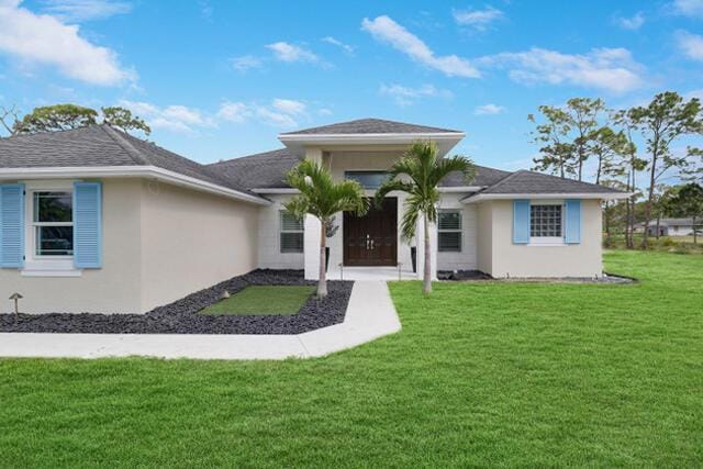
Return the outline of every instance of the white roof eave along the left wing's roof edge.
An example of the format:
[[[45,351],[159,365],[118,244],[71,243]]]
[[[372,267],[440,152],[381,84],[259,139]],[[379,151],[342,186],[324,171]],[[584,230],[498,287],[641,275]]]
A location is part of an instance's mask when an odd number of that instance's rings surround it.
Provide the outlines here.
[[[243,202],[269,205],[271,202],[259,196],[248,194],[224,186],[203,181],[157,166],[79,166],[40,168],[0,168],[0,180],[58,179],[58,178],[153,178],[163,182],[186,187],[202,192],[223,196]]]

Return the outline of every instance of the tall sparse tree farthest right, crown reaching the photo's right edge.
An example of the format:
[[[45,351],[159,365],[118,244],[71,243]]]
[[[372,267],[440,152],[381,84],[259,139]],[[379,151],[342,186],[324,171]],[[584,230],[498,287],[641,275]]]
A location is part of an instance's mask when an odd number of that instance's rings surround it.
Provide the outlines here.
[[[683,135],[703,132],[703,118],[701,103],[696,98],[684,101],[673,91],[655,96],[648,105],[633,108],[628,114],[641,131],[649,153],[647,161],[649,188],[641,242],[641,246],[646,248],[657,181],[670,168],[684,168],[690,160],[690,155],[672,155],[671,143]]]

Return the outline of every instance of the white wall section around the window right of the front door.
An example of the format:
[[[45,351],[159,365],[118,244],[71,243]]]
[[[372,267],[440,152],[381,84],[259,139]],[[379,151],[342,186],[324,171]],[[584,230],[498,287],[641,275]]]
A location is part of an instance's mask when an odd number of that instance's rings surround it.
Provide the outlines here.
[[[439,210],[461,212],[461,252],[437,253],[438,270],[473,270],[478,268],[477,257],[477,208],[459,201],[465,193],[443,193]]]

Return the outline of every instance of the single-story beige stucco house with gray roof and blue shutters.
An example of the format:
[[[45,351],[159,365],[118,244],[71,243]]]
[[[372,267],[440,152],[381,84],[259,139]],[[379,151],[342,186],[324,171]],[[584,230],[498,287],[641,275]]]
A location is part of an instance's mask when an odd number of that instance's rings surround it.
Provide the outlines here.
[[[369,196],[414,141],[442,155],[459,131],[365,119],[279,135],[283,147],[200,165],[108,125],[0,139],[0,295],[26,312],[146,312],[256,268],[316,278],[319,221],[290,216],[284,175],[301,158],[356,179]],[[432,271],[594,277],[601,201],[627,194],[531,171],[478,167],[442,182]],[[344,213],[330,266],[412,275],[419,238],[400,236],[404,196]],[[423,271],[417,256],[416,271]]]

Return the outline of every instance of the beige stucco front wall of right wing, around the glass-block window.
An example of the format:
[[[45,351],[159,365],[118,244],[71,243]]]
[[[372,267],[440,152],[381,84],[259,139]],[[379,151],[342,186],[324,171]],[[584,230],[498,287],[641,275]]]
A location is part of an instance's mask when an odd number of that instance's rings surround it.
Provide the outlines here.
[[[493,201],[490,210],[492,266],[488,273],[493,277],[587,278],[602,275],[602,220],[599,201],[581,201],[581,243],[561,246],[513,244],[512,201]]]

